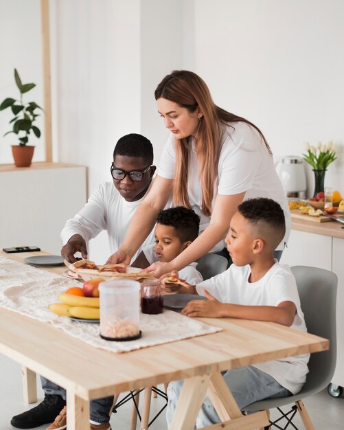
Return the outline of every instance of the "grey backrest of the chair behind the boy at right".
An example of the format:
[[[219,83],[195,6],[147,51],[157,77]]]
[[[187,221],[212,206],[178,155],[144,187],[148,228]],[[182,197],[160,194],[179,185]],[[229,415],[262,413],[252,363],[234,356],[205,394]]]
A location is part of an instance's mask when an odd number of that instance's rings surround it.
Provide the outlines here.
[[[308,332],[330,340],[330,350],[310,354],[310,372],[301,390],[304,393],[319,392],[330,383],[336,367],[338,279],[335,273],[316,267],[294,266],[291,270],[296,279]]]

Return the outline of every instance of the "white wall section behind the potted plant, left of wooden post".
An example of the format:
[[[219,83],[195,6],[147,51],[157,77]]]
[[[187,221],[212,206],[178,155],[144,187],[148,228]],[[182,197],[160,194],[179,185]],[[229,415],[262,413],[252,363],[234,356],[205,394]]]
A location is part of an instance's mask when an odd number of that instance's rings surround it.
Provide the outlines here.
[[[5,98],[20,99],[14,82],[14,68],[23,83],[37,86],[23,94],[23,102],[36,102],[43,106],[43,68],[40,0],[0,0],[0,103]],[[19,144],[16,135],[3,135],[12,130],[11,109],[0,111],[0,163],[13,163],[11,145]],[[44,128],[42,117],[36,125],[43,133],[41,139],[30,135],[29,144],[36,146],[33,161],[45,158]]]

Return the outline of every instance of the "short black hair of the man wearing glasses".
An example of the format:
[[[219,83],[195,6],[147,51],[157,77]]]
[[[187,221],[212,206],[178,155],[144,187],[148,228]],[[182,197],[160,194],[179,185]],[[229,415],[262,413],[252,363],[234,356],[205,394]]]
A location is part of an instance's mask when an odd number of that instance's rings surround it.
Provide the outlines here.
[[[113,159],[116,155],[126,155],[126,157],[142,157],[147,164],[153,163],[153,146],[147,137],[131,133],[121,137],[113,150]]]

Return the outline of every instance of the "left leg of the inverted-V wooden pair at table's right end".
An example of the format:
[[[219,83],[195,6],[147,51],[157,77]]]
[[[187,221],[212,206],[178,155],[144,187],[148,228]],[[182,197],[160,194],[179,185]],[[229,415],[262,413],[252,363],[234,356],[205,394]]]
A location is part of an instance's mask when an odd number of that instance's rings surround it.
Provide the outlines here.
[[[203,403],[210,375],[185,379],[170,425],[170,430],[194,430],[196,418]]]

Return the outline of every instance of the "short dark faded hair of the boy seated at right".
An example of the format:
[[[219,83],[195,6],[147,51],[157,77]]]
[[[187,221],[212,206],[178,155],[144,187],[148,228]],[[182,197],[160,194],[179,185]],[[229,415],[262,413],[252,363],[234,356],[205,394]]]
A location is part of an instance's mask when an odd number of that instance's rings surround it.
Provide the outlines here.
[[[282,207],[272,199],[248,199],[238,206],[238,212],[256,227],[271,247],[275,249],[286,234],[286,220]]]

